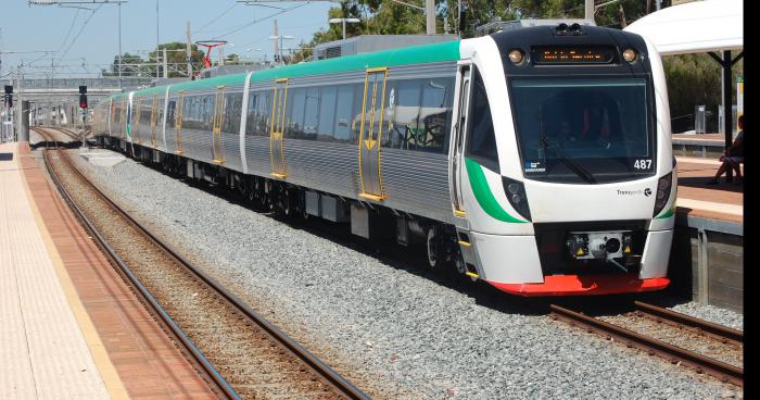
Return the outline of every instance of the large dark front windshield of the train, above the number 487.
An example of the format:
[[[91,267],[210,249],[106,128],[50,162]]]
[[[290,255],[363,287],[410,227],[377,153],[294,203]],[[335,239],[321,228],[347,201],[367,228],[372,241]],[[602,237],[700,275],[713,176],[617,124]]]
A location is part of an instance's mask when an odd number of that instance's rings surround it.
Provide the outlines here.
[[[525,177],[596,184],[653,175],[647,87],[630,76],[511,79]]]

